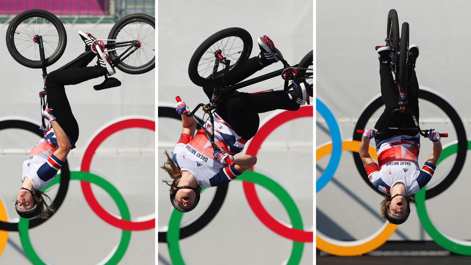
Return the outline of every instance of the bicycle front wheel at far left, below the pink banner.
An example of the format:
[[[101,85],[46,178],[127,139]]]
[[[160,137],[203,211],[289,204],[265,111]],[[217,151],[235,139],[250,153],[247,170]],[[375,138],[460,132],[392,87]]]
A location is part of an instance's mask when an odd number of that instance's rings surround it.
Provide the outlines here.
[[[29,21],[26,22],[28,19]],[[28,23],[27,30],[24,30],[22,23]],[[41,31],[42,33],[46,32],[46,35],[42,34]],[[56,32],[57,35],[55,35]],[[16,34],[18,34],[18,36]],[[39,45],[36,47],[37,42],[33,40],[33,36],[36,34],[43,37],[44,57],[47,62],[46,66],[57,62],[62,54],[64,54],[67,44],[67,33],[65,32],[62,22],[54,14],[42,9],[26,10],[17,15],[10,22],[6,37],[7,48],[10,55],[23,66],[42,68],[42,61],[38,49]],[[34,50],[32,47],[34,47]]]

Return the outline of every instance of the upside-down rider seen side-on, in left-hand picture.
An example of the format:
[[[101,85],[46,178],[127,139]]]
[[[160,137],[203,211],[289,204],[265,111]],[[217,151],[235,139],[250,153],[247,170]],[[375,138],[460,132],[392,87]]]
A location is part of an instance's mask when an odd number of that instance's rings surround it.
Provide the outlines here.
[[[96,39],[89,33],[79,31],[81,39],[85,42],[85,52],[92,49]],[[114,67],[106,53],[96,45],[97,54],[90,53],[68,69],[52,71],[47,75],[45,84],[47,88],[47,108],[42,116],[47,121],[46,126],[41,125],[44,138],[31,150],[23,162],[23,185],[16,196],[16,212],[23,218],[47,218],[54,211],[53,205],[48,205],[49,196],[41,191],[56,177],[57,171],[63,166],[65,158],[79,139],[79,125],[73,116],[69,100],[65,94],[65,85],[74,85],[89,79],[104,75],[114,75]],[[87,65],[97,57],[94,66]],[[95,90],[116,87],[121,82],[113,77],[96,85]]]

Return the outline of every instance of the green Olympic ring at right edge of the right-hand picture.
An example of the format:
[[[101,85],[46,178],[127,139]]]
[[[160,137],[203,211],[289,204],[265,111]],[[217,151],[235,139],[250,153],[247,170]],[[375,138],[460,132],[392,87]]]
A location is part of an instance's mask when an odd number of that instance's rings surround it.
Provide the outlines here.
[[[468,150],[471,149],[471,141],[468,141]],[[445,158],[455,154],[458,151],[458,143],[452,144],[447,148],[443,149],[442,155],[437,162],[437,166]],[[425,193],[427,186],[415,193],[415,206],[417,208],[417,214],[419,215],[420,222],[422,223],[423,229],[429,234],[429,236],[437,242],[442,248],[445,248],[451,252],[471,256],[471,242],[454,239],[450,236],[444,235],[432,224],[427,208],[425,207]]]

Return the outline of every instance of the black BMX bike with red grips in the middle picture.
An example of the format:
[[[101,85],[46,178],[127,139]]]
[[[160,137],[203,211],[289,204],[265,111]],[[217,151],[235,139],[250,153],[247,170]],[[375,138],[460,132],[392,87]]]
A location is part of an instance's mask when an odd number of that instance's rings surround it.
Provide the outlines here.
[[[283,63],[283,69],[231,85],[228,85],[227,81],[230,77],[236,77],[237,72],[242,68],[242,66],[244,66],[252,51],[252,36],[246,30],[234,27],[214,33],[203,41],[191,57],[188,65],[188,76],[190,77],[190,80],[197,86],[213,86],[214,88],[210,103],[200,103],[193,109],[193,111],[187,112],[185,110],[183,113],[187,117],[193,117],[197,124],[202,128],[205,128],[205,126],[200,123],[198,118],[195,116],[195,112],[202,107],[204,113],[209,114],[211,130],[208,132],[204,129],[204,132],[211,141],[214,151],[222,151],[222,149],[214,143],[213,112],[218,107],[218,100],[224,99],[228,96],[227,92],[236,92],[238,89],[281,75],[284,79],[283,86],[252,94],[285,92],[289,91],[293,87],[304,86],[307,91],[306,102],[308,105],[310,104],[309,95],[313,94],[313,51],[311,50],[306,54],[299,64],[290,66],[286,60],[276,52],[274,47],[270,47],[270,49]],[[283,87],[283,90],[278,90],[281,87]],[[181,101],[180,97],[176,97],[176,100],[177,102]],[[228,158],[226,158],[226,162],[230,166],[235,166],[234,162]]]

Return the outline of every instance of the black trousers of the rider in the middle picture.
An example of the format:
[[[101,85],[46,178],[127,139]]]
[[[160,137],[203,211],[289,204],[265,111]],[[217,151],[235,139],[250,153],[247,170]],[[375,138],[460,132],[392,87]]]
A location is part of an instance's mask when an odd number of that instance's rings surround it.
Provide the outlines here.
[[[260,58],[247,60],[242,69],[233,78],[228,78],[228,85],[238,83],[261,70]],[[203,87],[203,91],[211,99],[213,87]],[[245,140],[251,139],[259,129],[259,113],[275,110],[298,110],[299,105],[293,104],[284,91],[250,94],[235,91],[225,99],[218,99],[216,113],[221,116]]]

